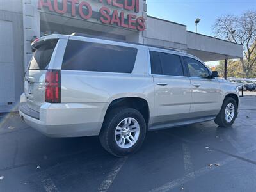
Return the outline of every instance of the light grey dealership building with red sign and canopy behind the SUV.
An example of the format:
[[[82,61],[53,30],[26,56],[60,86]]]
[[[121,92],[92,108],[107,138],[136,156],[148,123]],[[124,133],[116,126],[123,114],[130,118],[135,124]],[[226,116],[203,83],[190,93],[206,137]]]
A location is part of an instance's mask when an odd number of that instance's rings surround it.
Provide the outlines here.
[[[243,57],[243,46],[193,33],[147,15],[145,0],[0,1],[0,113],[15,110],[24,90],[31,42],[78,32],[188,52],[203,61]]]

